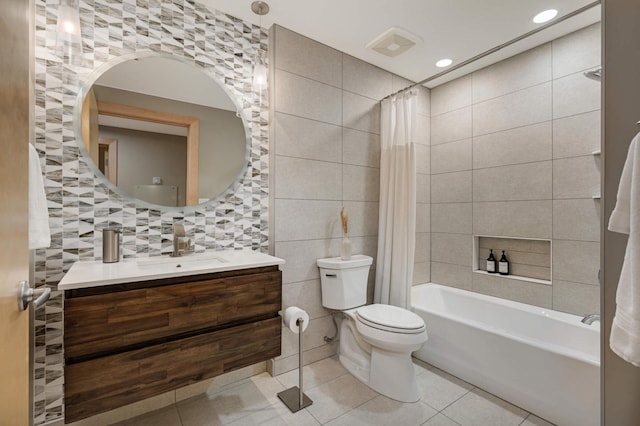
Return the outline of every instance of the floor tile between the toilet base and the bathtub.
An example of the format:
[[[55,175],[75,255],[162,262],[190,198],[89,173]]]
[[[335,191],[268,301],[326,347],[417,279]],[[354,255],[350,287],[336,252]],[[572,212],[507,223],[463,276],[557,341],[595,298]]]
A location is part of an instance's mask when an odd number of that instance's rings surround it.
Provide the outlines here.
[[[438,411],[473,389],[469,383],[437,368],[418,375],[416,381],[420,399]]]

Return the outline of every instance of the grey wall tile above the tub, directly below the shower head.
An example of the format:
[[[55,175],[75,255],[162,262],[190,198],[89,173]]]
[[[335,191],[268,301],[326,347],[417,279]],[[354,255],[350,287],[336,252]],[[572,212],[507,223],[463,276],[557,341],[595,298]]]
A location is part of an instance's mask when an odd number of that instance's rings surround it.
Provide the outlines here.
[[[599,110],[600,89],[599,81],[582,72],[553,80],[553,118]]]

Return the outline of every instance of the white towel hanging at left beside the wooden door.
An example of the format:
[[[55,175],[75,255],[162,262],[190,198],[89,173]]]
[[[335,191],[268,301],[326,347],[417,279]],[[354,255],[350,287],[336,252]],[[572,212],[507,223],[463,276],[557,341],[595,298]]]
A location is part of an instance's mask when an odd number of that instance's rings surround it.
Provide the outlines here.
[[[51,245],[49,210],[38,152],[29,145],[29,250]]]

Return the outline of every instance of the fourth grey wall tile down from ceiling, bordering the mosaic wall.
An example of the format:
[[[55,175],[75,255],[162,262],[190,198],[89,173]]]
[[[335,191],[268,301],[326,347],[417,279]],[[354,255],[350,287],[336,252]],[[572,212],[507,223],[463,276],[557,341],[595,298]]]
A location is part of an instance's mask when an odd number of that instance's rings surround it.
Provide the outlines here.
[[[279,198],[342,199],[342,165],[277,156],[275,190]]]

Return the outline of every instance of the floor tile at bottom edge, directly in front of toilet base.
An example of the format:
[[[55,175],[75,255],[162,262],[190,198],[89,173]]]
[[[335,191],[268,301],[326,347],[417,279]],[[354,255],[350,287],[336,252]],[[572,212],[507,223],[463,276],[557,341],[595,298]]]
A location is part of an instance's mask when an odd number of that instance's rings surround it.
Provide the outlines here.
[[[436,414],[436,410],[422,401],[403,403],[380,395],[327,423],[327,426],[418,426]]]

